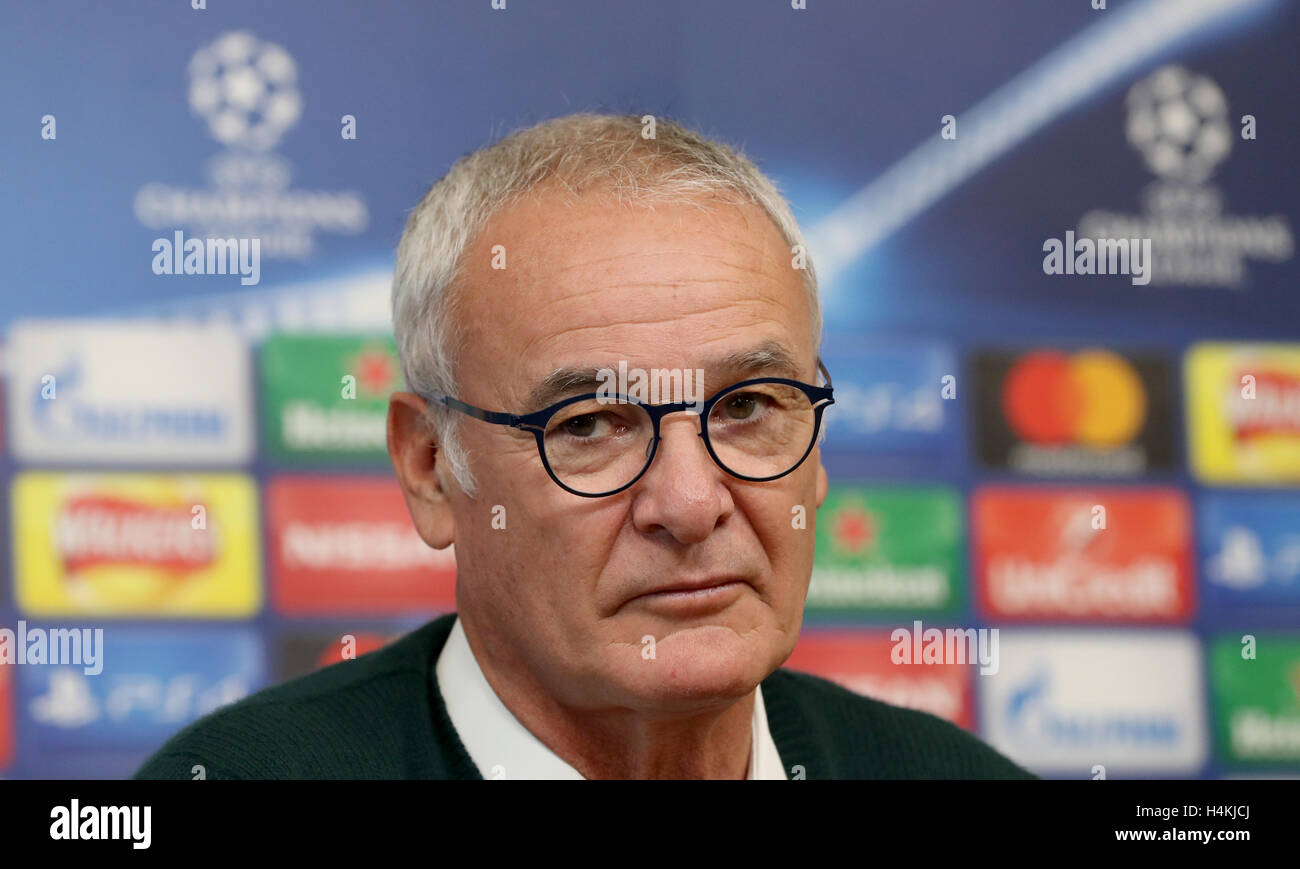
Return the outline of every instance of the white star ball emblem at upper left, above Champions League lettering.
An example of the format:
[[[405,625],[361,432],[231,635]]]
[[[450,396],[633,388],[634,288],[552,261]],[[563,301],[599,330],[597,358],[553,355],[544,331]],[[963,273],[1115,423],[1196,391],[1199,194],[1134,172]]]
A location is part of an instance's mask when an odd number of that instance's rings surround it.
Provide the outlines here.
[[[274,43],[225,34],[190,61],[190,108],[217,142],[268,151],[303,114],[298,66]]]

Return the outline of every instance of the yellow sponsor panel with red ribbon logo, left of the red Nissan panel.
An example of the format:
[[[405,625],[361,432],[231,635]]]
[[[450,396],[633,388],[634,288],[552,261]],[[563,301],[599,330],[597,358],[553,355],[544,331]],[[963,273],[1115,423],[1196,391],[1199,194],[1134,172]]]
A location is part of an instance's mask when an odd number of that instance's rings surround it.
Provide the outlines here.
[[[14,589],[31,615],[243,618],[261,606],[257,492],[238,474],[21,474]]]

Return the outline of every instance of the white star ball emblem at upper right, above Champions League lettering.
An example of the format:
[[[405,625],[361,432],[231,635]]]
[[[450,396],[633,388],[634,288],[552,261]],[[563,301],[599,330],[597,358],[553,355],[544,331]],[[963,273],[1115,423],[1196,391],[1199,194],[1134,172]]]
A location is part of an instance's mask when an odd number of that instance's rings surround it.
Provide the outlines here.
[[[1223,91],[1205,75],[1164,66],[1128,91],[1128,143],[1161,178],[1200,183],[1232,150]]]

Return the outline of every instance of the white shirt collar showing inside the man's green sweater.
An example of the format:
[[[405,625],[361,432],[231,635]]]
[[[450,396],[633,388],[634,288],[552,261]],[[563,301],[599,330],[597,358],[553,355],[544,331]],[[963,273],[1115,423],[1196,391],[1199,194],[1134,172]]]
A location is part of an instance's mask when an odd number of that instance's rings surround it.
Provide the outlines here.
[[[458,618],[438,654],[438,691],[471,760],[486,779],[573,779],[582,774],[533,736],[484,678]],[[767,729],[763,688],[754,688],[749,778],[785,779],[781,756]]]

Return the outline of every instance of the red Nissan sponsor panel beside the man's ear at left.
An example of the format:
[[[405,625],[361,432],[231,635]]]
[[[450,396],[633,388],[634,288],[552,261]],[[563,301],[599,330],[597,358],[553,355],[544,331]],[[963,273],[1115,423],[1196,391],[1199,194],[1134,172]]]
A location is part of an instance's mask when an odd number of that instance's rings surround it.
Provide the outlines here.
[[[272,598],[286,614],[455,608],[455,558],[416,533],[396,480],[277,477],[266,488]]]

